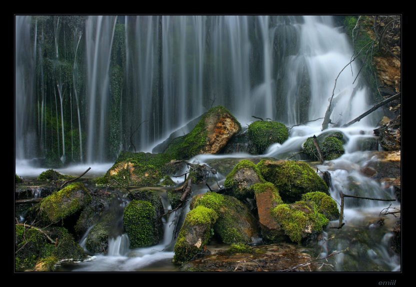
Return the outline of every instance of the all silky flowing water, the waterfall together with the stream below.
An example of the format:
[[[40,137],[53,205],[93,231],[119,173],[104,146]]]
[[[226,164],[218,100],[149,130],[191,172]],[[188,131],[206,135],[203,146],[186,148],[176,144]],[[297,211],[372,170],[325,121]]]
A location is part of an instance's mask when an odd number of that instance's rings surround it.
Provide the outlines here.
[[[55,19],[56,29],[61,20]],[[336,102],[333,123],[342,125],[369,108],[367,88],[354,82],[359,70],[354,62],[339,75],[334,86],[339,71],[351,59],[352,49],[348,35],[334,25],[331,16],[88,16],[84,34],[79,29],[73,35],[72,85],[62,86],[59,82],[56,89],[54,83],[53,92],[42,89],[42,93],[36,93],[36,80],[30,75],[45,60],[43,46],[36,44],[44,32],[39,21],[32,21],[30,16],[17,16],[15,21],[15,53],[20,55],[15,60],[15,173],[25,178],[34,178],[46,169],[42,159],[47,152],[57,153],[62,161],[70,154],[74,157],[73,152],[68,152],[69,147],[76,146],[74,142],[78,142],[78,158],[72,165],[56,170],[79,175],[91,167],[88,176],[102,175],[119,150],[151,152],[170,133],[212,105],[229,109],[243,127],[253,121],[252,115],[286,126],[311,121],[291,128],[287,141],[271,145],[260,155],[278,159],[300,151],[307,137],[321,132],[322,121],[313,120],[324,116],[332,91]],[[29,40],[33,22],[37,35],[34,41]],[[124,24],[121,32],[120,23]],[[111,94],[111,52],[119,47],[115,41],[120,35],[124,37],[121,54],[125,56],[126,80],[115,98]],[[55,38],[56,57],[62,52],[58,51],[58,40]],[[83,57],[80,50],[85,53]],[[79,58],[83,58],[82,64]],[[80,76],[83,65],[86,70]],[[80,78],[87,84],[83,86]],[[39,82],[46,86],[43,80]],[[304,93],[309,98],[302,98]],[[37,112],[31,106],[37,106]],[[70,117],[66,115],[69,110]],[[330,173],[330,193],[338,204],[339,191],[350,183],[365,189],[368,197],[395,197],[392,190],[358,172],[372,160],[369,152],[360,150],[359,140],[373,138],[377,115],[376,111],[348,128],[334,129],[347,138],[345,154],[316,166]],[[64,136],[65,121],[70,121],[69,136]],[[48,137],[55,137],[57,151],[54,146],[47,149]],[[114,142],[109,144],[108,138]],[[199,155],[190,161],[208,163],[229,157],[254,156]],[[216,176],[215,182],[220,185],[226,174]],[[206,186],[192,187],[192,196],[204,192]],[[162,199],[163,207],[169,209],[166,199]],[[345,200],[345,227],[331,229],[337,224],[331,222],[316,247],[318,254],[327,256],[347,248],[352,240],[352,252],[331,257],[336,262],[333,271],[400,271],[400,259],[388,250],[394,217],[386,218],[380,227],[373,222],[390,204],[400,209],[397,201]],[[93,255],[92,260],[65,270],[177,271],[171,263],[171,222],[187,210],[185,207],[181,214],[172,213],[165,219],[164,238],[156,246],[129,249],[127,236],[119,234],[109,239],[107,255]],[[349,237],[343,239],[343,235]]]

